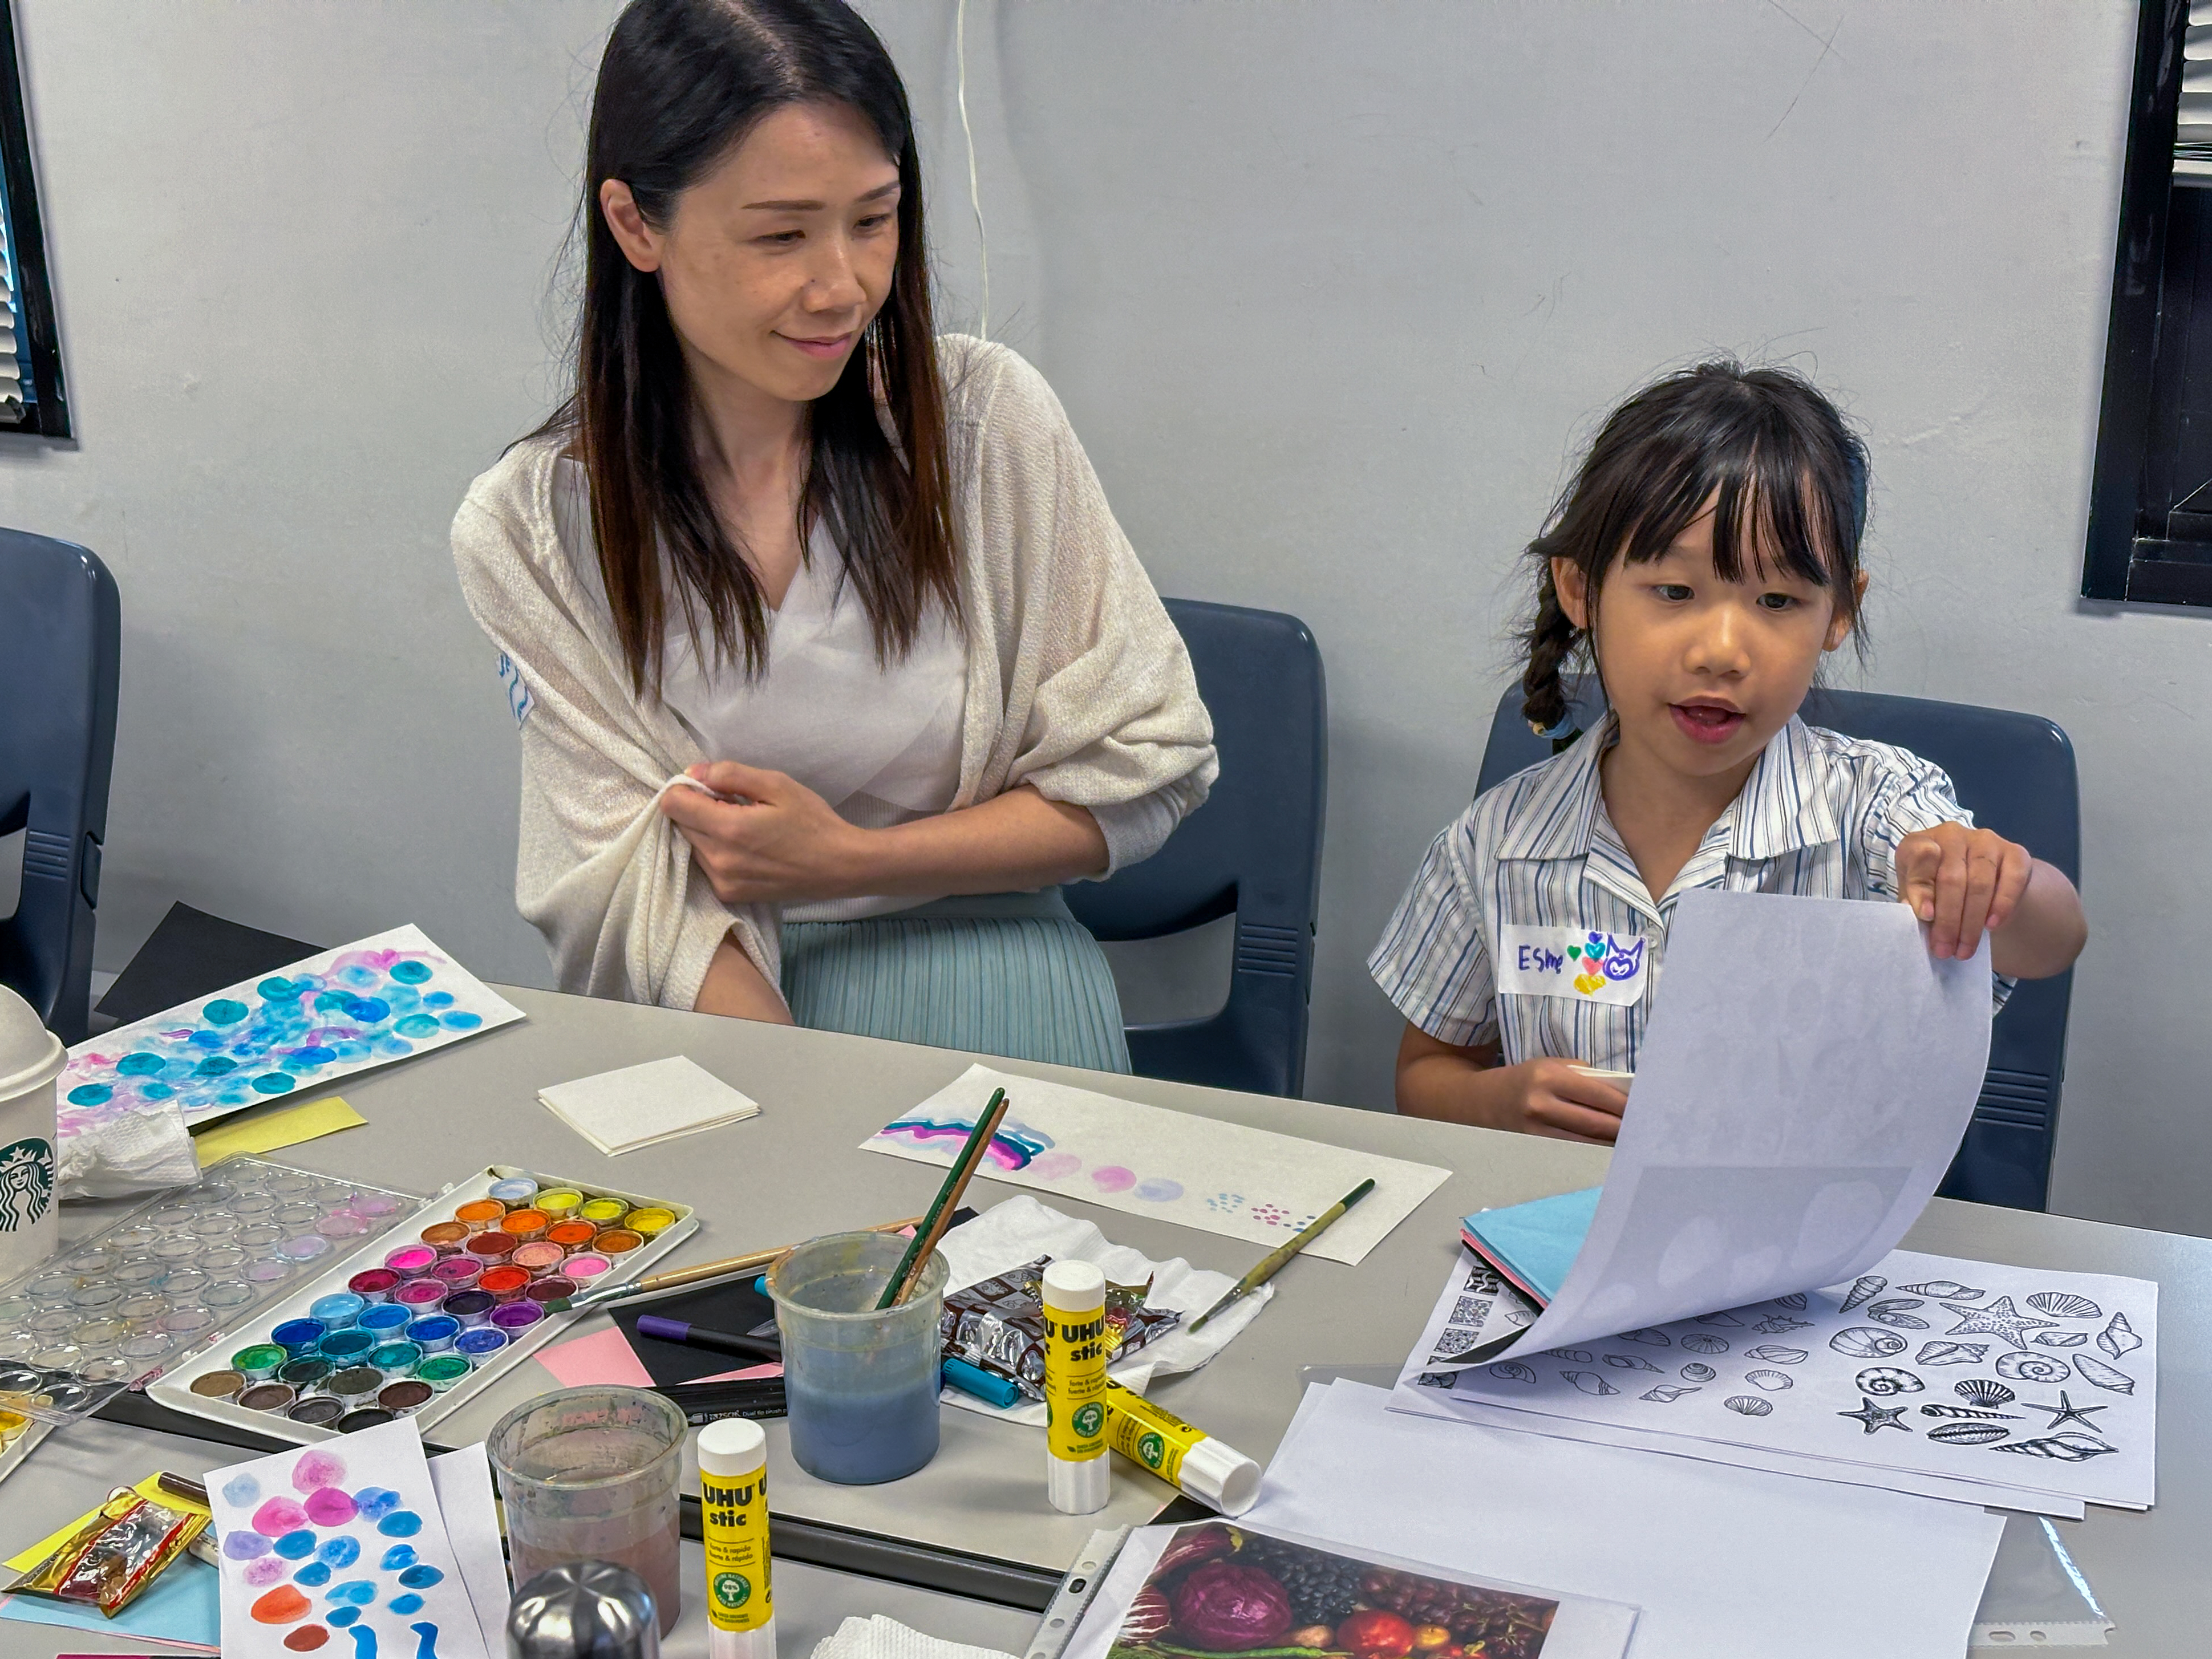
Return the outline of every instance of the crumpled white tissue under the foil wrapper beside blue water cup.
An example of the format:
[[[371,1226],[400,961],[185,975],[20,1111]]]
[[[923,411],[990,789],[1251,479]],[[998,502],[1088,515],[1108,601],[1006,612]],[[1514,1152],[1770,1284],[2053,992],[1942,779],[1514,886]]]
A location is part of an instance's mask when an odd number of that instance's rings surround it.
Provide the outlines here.
[[[1022,1267],[1037,1256],[1095,1263],[1113,1285],[1152,1281],[1152,1290],[1144,1298],[1146,1307],[1172,1307],[1183,1316],[1183,1323],[1166,1336],[1146,1343],[1126,1360],[1106,1367],[1108,1376],[1135,1394],[1144,1394],[1152,1385],[1152,1378],[1197,1371],[1228,1347],[1245,1325],[1259,1318],[1261,1307],[1274,1301],[1274,1285],[1261,1285],[1225,1314],[1208,1321],[1203,1332],[1192,1332],[1188,1329],[1190,1321],[1221,1301],[1237,1283],[1234,1279],[1208,1272],[1206,1267],[1192,1267],[1181,1256],[1152,1261],[1139,1250],[1113,1243],[1093,1223],[1060,1214],[1060,1210],[1037,1203],[1026,1192],[1004,1203],[993,1203],[973,1221],[947,1232],[938,1239],[938,1254],[945,1256],[945,1265],[951,1270],[945,1281],[947,1294],[967,1290],[980,1279]],[[1044,1400],[998,1407],[960,1389],[945,1389],[938,1398],[945,1405],[980,1411],[987,1418],[1044,1427]]]

